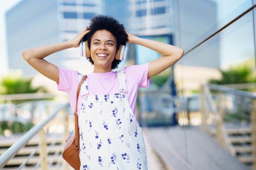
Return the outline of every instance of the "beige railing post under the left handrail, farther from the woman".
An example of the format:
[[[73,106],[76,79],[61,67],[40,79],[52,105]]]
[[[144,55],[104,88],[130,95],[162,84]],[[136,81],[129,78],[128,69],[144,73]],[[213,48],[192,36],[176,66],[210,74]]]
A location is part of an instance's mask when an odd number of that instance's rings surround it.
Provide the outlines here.
[[[44,133],[44,130],[41,129],[39,131],[39,156],[42,160],[41,162],[41,169],[47,170],[47,145],[46,145],[46,134]]]

